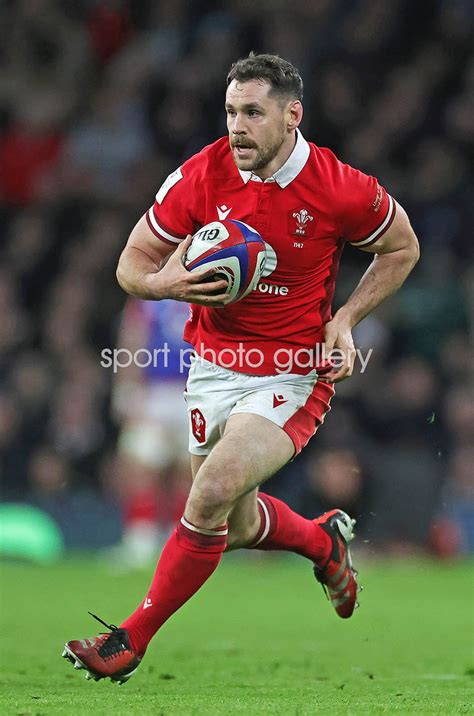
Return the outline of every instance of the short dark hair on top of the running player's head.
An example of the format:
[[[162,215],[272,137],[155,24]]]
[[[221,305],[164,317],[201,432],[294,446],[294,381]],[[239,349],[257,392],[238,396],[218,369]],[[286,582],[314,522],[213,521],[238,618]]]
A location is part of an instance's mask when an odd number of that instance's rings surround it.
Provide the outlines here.
[[[232,80],[264,80],[271,86],[269,94],[285,99],[303,99],[303,80],[300,73],[291,62],[278,55],[256,55],[251,52],[248,57],[234,62],[227,75],[227,85],[230,85]]]

